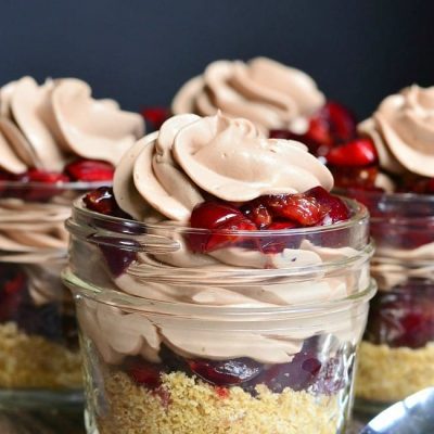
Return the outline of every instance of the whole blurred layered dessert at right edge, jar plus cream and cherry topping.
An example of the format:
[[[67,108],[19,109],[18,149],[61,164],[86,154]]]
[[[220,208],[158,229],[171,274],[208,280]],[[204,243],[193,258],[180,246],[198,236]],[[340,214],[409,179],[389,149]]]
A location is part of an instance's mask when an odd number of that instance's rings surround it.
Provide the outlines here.
[[[336,184],[371,213],[376,251],[357,396],[378,408],[434,385],[434,87],[381,102],[326,159]]]

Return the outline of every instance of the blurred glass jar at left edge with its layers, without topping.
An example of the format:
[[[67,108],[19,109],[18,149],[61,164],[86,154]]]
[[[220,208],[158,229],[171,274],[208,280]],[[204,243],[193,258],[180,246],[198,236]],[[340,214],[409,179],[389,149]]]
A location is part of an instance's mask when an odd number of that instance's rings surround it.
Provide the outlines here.
[[[90,188],[0,181],[0,405],[82,401],[74,302],[60,275],[64,221]]]

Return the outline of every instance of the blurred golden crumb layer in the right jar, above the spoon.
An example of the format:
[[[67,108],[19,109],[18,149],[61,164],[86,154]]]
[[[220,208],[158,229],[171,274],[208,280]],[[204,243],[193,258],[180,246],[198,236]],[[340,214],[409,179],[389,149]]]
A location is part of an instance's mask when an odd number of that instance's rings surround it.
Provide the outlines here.
[[[361,343],[358,398],[392,403],[429,386],[434,386],[434,343],[418,349]]]

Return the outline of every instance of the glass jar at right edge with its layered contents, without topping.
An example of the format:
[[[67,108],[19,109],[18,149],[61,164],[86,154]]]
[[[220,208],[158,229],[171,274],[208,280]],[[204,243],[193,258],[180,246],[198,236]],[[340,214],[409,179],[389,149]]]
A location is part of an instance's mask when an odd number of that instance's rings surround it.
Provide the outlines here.
[[[350,191],[371,213],[379,292],[357,375],[361,409],[376,411],[434,386],[434,197]]]

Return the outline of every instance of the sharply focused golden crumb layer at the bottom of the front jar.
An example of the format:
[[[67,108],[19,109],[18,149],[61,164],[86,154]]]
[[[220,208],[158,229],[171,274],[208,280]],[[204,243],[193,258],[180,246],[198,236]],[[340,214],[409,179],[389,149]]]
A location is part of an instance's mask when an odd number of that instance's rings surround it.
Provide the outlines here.
[[[336,434],[336,396],[315,397],[285,388],[257,386],[252,397],[241,387],[214,387],[183,372],[162,376],[158,392],[137,385],[120,371],[104,375],[107,413],[100,434]]]

